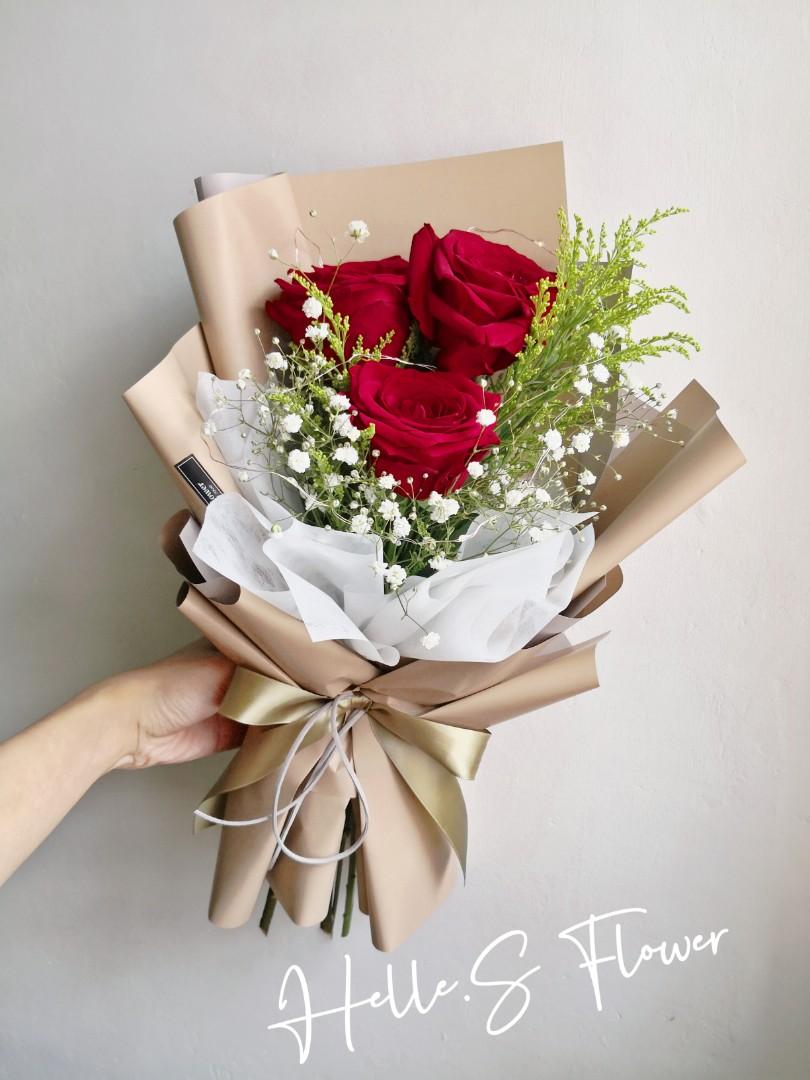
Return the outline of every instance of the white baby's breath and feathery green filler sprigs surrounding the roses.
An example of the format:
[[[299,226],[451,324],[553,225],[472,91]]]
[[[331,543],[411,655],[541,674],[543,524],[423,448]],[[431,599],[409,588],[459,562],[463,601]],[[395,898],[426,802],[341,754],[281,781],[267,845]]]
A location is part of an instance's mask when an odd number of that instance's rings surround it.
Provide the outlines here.
[[[335,310],[328,289],[292,268],[292,279],[306,294],[302,339],[285,345],[273,338],[266,351],[257,330],[267,378],[242,370],[239,400],[218,401],[220,409],[235,410],[235,422],[251,441],[238,478],[246,484],[282,477],[294,492],[291,513],[300,521],[378,537],[381,557],[373,563],[374,572],[397,595],[410,576],[436,572],[458,559],[462,543],[477,535],[487,541],[476,554],[496,554],[541,542],[557,527],[561,512],[597,515],[604,509],[593,498],[598,478],[606,469],[620,478],[610,459],[635,432],[677,438],[676,417],[656,411],[660,388],[632,389],[629,379],[630,365],[698,349],[686,334],[636,338],[632,330],[636,320],[661,305],[687,310],[680,289],[653,287],[631,275],[643,266],[638,256],[654,226],[677,213],[657,211],[636,222],[627,218],[611,244],[604,227],[594,233],[575,217],[571,230],[561,214],[556,282],[539,283],[524,348],[504,372],[478,379],[482,388],[501,395],[497,414],[483,401],[477,414],[482,431],[495,426],[500,446],[486,456],[473,447],[457,483],[427,499],[407,494],[427,474],[399,483],[376,468],[375,429],[364,428],[352,407],[349,372],[360,362],[392,359],[402,366],[432,367],[430,343],[414,325],[399,357],[386,354],[393,330],[370,345],[357,338],[349,350],[348,316]],[[361,220],[348,232],[354,243],[369,234]],[[557,289],[553,305],[551,288]],[[204,434],[215,431],[206,421]],[[426,648],[435,644],[432,637],[423,639]]]

